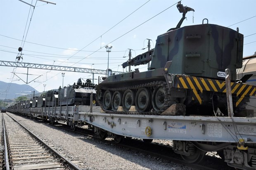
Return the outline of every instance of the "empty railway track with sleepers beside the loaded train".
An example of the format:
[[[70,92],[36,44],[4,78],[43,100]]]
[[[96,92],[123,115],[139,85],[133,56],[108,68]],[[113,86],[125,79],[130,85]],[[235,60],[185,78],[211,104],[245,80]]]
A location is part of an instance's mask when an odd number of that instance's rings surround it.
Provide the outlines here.
[[[6,169],[37,170],[37,169],[72,169],[79,168],[71,161],[51,149],[32,132],[16,122],[7,114],[2,114],[2,126],[5,129],[5,148],[8,159],[5,159]],[[5,150],[6,151],[6,150]],[[5,156],[6,158],[6,156]]]

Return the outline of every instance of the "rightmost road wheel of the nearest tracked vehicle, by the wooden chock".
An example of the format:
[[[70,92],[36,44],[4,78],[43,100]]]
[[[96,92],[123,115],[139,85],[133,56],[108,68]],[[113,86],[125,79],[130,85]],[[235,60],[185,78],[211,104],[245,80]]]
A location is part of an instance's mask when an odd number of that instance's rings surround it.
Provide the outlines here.
[[[152,94],[152,104],[155,111],[160,111],[164,106],[164,94],[165,90],[162,85],[157,86]]]

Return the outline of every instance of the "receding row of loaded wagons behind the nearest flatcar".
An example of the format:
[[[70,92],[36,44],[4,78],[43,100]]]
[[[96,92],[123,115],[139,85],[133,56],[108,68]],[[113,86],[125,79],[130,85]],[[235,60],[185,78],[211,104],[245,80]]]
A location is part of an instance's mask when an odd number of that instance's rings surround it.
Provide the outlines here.
[[[40,117],[44,120],[49,119],[51,123],[64,121],[75,128],[78,121],[73,121],[73,114],[77,114],[78,111],[90,110],[90,105],[98,105],[95,87],[96,85],[92,84],[89,79],[82,83],[81,78],[79,78],[77,83],[73,85],[49,90],[38,97],[33,97],[31,100],[18,102],[9,106],[7,111]],[[90,101],[92,101],[92,104]]]

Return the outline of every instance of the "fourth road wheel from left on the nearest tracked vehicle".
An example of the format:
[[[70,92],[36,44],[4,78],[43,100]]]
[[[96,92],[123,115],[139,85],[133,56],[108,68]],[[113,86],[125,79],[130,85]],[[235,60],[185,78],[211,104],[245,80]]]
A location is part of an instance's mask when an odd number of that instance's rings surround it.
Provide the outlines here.
[[[139,112],[148,111],[151,106],[151,92],[145,88],[140,88],[135,96],[135,108]]]

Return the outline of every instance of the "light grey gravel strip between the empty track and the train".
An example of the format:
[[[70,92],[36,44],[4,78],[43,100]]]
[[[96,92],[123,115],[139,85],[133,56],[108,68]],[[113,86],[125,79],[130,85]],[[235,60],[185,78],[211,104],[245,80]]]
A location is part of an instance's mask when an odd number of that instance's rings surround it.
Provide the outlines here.
[[[104,170],[183,170],[191,169],[156,157],[119,148],[102,141],[60,130],[12,113],[16,120],[70,161],[81,161],[81,169]]]

